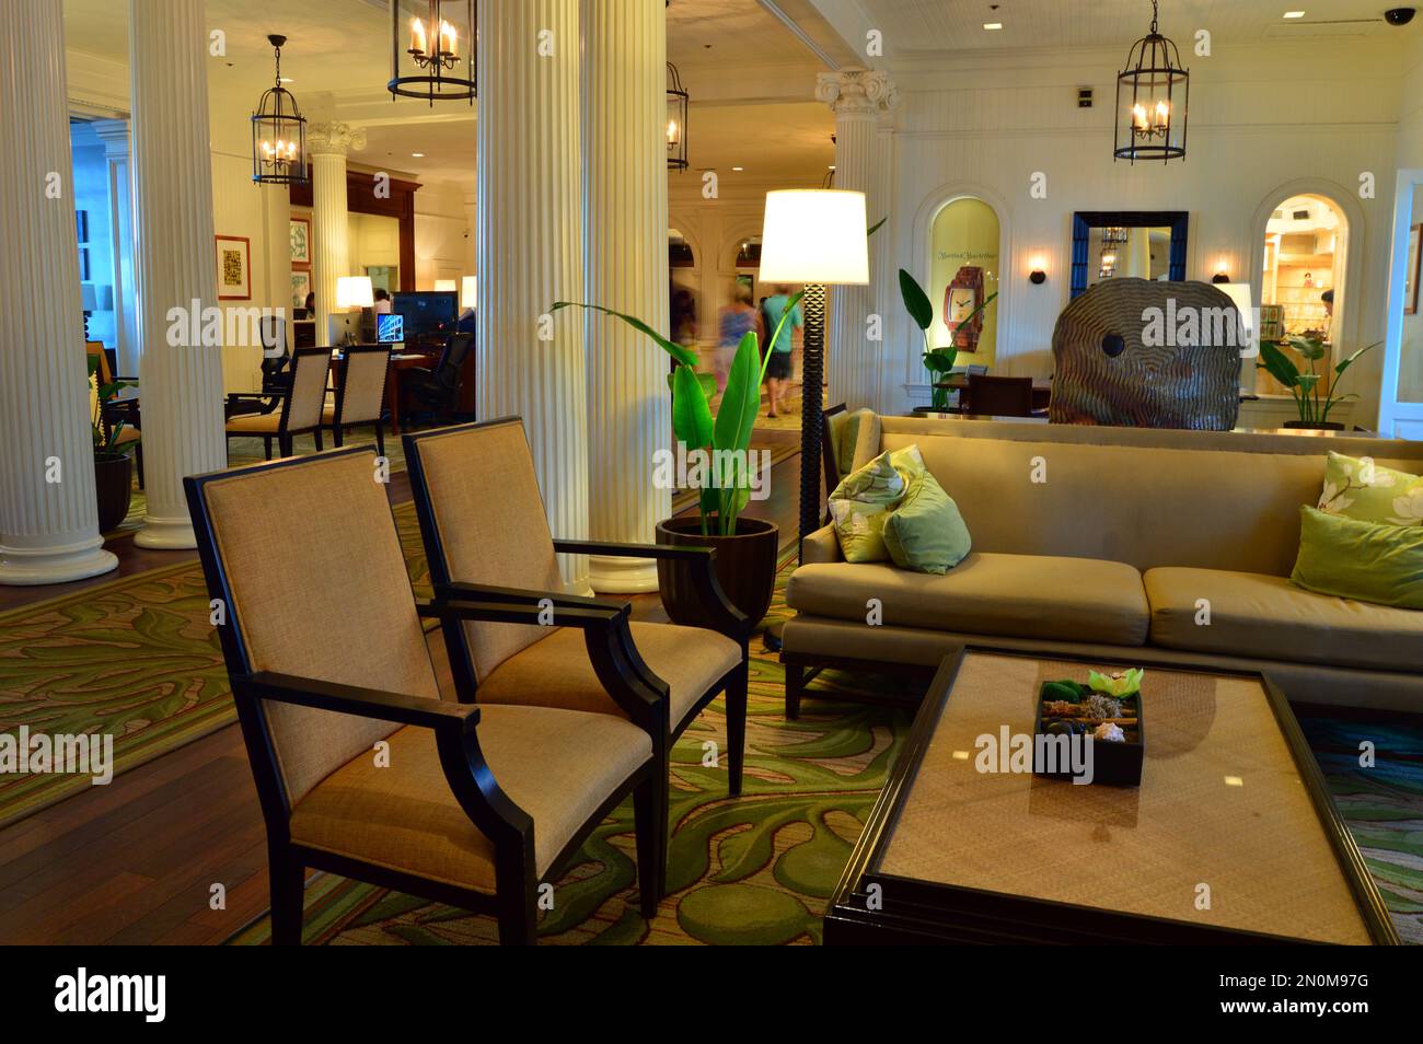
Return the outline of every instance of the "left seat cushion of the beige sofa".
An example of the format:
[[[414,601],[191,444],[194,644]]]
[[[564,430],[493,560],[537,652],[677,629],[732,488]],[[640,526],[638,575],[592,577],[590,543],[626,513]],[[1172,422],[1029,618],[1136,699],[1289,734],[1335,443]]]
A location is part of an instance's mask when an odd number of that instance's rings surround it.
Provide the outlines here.
[[[1147,639],[1141,575],[1121,562],[973,552],[945,576],[824,562],[801,566],[785,587],[791,609],[841,620],[865,622],[869,599],[901,627],[1116,646]]]

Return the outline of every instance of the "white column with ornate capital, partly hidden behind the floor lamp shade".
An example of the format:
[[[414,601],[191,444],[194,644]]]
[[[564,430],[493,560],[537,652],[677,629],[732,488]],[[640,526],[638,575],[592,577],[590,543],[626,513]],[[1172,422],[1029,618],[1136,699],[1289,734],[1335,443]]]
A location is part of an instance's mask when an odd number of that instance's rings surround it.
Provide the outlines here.
[[[877,115],[892,91],[884,73],[864,68],[844,68],[817,77],[815,97],[835,114],[837,189],[872,196]],[[867,216],[874,225],[885,215],[869,212]],[[867,337],[865,324],[872,310],[872,282],[871,286],[837,286],[831,293],[825,339],[830,401],[845,403],[851,410],[869,405],[875,398],[879,343]],[[815,390],[805,388],[805,394],[815,394]]]

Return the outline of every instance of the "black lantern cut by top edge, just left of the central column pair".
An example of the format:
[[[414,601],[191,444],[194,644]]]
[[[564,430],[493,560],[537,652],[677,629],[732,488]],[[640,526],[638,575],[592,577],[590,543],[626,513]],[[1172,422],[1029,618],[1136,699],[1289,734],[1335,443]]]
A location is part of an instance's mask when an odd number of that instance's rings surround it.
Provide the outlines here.
[[[391,100],[474,105],[477,14],[474,0],[390,0]]]

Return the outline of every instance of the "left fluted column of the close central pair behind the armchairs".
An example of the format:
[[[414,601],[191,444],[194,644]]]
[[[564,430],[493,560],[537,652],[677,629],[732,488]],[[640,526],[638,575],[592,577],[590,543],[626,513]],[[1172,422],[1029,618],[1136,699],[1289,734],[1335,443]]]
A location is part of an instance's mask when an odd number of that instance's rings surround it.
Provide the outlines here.
[[[524,418],[556,538],[588,536],[578,0],[480,4],[478,410]],[[666,247],[663,247],[666,249]],[[599,474],[599,481],[606,475]],[[588,590],[588,560],[562,560]]]

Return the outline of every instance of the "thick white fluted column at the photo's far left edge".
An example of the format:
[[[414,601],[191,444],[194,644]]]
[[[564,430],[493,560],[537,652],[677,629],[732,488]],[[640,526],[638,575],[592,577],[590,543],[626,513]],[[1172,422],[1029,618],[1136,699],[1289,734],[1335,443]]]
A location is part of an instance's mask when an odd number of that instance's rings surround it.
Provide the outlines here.
[[[94,451],[60,0],[6,6],[0,84],[0,583],[107,573]]]

